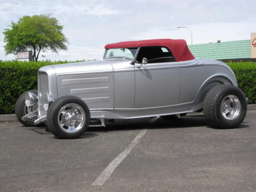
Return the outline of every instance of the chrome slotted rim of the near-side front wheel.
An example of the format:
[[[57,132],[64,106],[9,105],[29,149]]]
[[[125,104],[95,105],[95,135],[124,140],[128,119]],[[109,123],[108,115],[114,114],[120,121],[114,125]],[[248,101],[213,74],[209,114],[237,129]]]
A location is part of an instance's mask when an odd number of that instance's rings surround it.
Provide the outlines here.
[[[84,109],[75,103],[66,104],[58,113],[58,124],[67,133],[74,133],[83,128],[86,122]]]

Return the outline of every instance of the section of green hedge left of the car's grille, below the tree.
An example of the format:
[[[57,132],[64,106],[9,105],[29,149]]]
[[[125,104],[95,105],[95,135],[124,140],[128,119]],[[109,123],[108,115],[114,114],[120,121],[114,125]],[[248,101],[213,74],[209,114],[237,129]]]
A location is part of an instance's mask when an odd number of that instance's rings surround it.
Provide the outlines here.
[[[25,91],[37,89],[37,72],[42,66],[78,61],[2,61],[0,60],[0,114],[14,114],[17,98]]]

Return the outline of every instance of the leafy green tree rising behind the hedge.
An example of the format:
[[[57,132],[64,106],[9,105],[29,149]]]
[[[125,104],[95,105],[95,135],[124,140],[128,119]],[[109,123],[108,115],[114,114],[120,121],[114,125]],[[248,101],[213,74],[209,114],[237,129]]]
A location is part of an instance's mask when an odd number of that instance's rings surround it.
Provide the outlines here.
[[[38,60],[40,51],[58,54],[59,50],[68,50],[68,38],[62,33],[63,26],[50,14],[23,16],[18,22],[12,22],[11,29],[4,29],[4,50],[6,55],[33,50],[33,61]],[[37,53],[37,54],[36,54]]]

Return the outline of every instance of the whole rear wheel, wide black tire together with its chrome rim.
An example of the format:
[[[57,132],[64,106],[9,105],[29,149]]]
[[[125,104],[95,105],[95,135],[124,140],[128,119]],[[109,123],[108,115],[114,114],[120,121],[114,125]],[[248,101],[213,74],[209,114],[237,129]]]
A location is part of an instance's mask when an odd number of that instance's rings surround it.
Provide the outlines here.
[[[237,128],[246,116],[246,97],[236,86],[226,84],[214,86],[204,98],[203,112],[211,127]]]

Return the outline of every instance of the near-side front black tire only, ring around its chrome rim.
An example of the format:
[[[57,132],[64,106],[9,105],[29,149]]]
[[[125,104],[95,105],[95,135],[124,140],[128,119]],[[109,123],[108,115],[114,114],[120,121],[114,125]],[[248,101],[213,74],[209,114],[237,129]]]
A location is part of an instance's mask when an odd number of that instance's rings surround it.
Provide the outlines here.
[[[80,105],[86,116],[86,122],[84,126],[77,132],[75,133],[67,133],[64,132],[60,126],[58,125],[58,112],[60,109],[69,103],[75,103]],[[49,130],[54,134],[57,138],[60,139],[75,139],[79,138],[84,132],[87,130],[89,124],[90,124],[90,110],[87,106],[87,104],[81,100],[80,98],[76,96],[62,96],[58,99],[56,99],[52,104],[49,106],[49,109],[47,111],[47,124]]]

